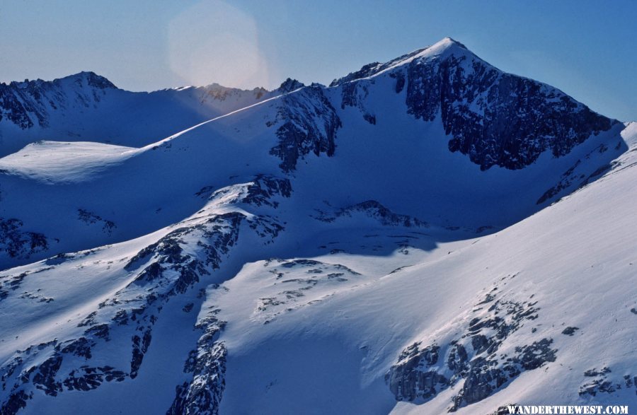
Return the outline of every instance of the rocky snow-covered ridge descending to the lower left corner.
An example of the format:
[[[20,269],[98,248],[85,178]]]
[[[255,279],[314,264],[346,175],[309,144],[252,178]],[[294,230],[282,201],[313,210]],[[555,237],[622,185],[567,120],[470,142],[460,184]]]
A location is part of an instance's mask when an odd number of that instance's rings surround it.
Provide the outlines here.
[[[241,223],[246,223],[248,232],[256,232],[262,238],[275,238],[283,229],[277,221],[267,216],[244,214],[242,209],[232,209],[232,203],[241,203],[243,206],[271,204],[277,196],[289,197],[289,191],[289,182],[285,180],[258,177],[255,182],[215,192],[207,208],[170,229],[151,235],[154,242],[141,250],[139,247],[149,243],[149,238],[76,255],[58,255],[34,264],[35,268],[23,271],[17,277],[4,277],[3,281],[7,284],[0,288],[3,304],[11,306],[17,301],[23,303],[22,306],[32,308],[30,322],[25,320],[16,329],[20,333],[33,329],[31,333],[37,337],[26,337],[23,341],[37,343],[38,337],[50,336],[40,326],[40,315],[47,315],[48,320],[70,317],[65,323],[70,330],[64,332],[63,336],[57,334],[54,340],[43,341],[37,348],[29,346],[13,354],[1,376],[2,390],[8,393],[8,400],[3,404],[6,413],[15,413],[24,407],[26,399],[33,397],[33,389],[54,397],[67,390],[89,391],[103,382],[136,378],[151,344],[153,327],[161,318],[164,305],[171,298],[185,294],[203,276],[219,269],[222,260],[239,238],[240,228],[243,227]],[[229,196],[231,198],[228,200]],[[222,198],[219,200],[219,197]],[[188,241],[196,242],[194,251],[188,246]],[[131,249],[139,252],[133,256],[126,255]],[[87,264],[87,260],[91,265]],[[84,270],[87,265],[90,271]],[[36,279],[55,279],[60,271],[69,272],[76,267],[83,269],[81,274],[93,275],[94,282],[90,285],[93,287],[93,298],[84,296],[86,303],[80,309],[88,308],[90,312],[86,310],[72,315],[64,308],[59,312],[52,310],[57,309],[55,305],[46,309],[41,307],[42,303],[53,303],[55,298],[62,300],[63,304],[64,297],[76,296],[76,290],[80,287],[73,287],[67,292],[59,291],[54,286],[52,291],[46,290],[54,297],[42,297],[42,293],[35,297],[14,295],[18,289],[28,290],[28,286],[39,286]],[[37,275],[35,279],[31,274]],[[99,276],[105,276],[110,281],[100,284],[95,281],[95,276],[98,279]],[[103,289],[98,290],[98,287]],[[45,300],[42,301],[42,298]],[[190,312],[193,304],[184,307]],[[208,320],[206,327],[212,324]],[[35,327],[26,329],[31,325]],[[205,335],[212,336],[210,333]],[[126,338],[130,340],[126,341]],[[113,346],[105,347],[105,343],[111,341]],[[110,351],[113,350],[119,354],[111,355]],[[108,358],[100,358],[101,353],[108,353]],[[108,361],[110,365],[91,366],[93,358]]]

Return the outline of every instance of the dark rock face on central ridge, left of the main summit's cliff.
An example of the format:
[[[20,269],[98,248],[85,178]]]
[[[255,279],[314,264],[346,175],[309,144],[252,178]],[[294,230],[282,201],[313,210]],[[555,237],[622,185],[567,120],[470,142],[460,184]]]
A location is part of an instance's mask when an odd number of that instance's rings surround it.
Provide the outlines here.
[[[303,88],[287,94],[274,122],[279,144],[270,150],[272,156],[282,160],[280,168],[289,172],[297,168],[297,161],[308,153],[319,156],[334,155],[336,130],[341,126],[334,107],[318,86]]]

